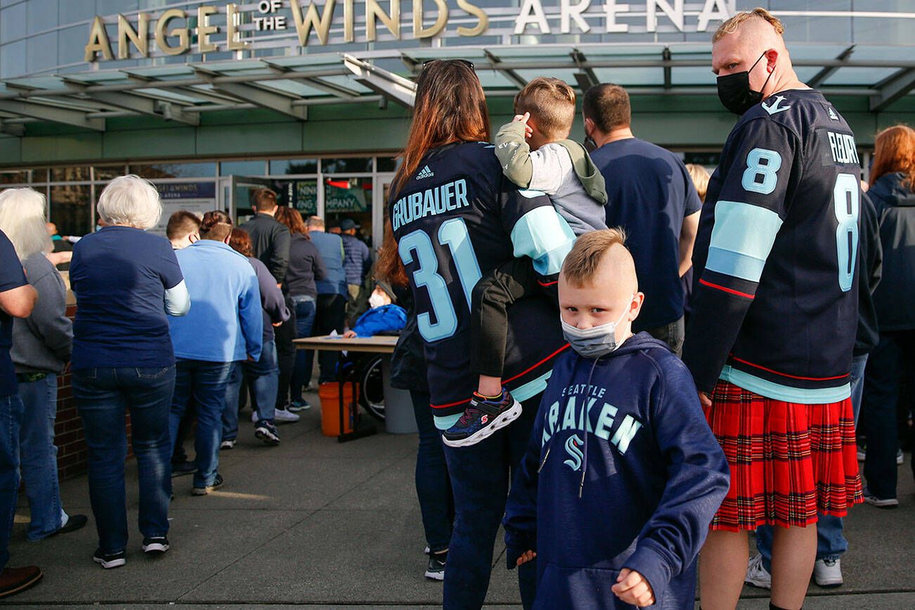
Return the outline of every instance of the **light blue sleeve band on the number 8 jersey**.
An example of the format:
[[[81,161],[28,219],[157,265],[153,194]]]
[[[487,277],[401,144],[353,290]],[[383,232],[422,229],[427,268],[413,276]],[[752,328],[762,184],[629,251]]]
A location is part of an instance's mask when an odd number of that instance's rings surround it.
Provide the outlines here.
[[[775,236],[779,215],[739,201],[718,201],[705,268],[749,282],[759,282]]]

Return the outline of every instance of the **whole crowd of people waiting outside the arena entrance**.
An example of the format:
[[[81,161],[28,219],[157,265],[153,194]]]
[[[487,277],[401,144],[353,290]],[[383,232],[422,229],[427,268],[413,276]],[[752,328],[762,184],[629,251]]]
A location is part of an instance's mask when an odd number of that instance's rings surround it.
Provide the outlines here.
[[[568,139],[574,91],[550,78],[516,96],[487,144],[473,65],[424,66],[369,303],[407,309],[391,325],[405,322],[391,383],[414,402],[425,576],[445,581],[444,607],[481,607],[503,524],[525,608],[692,607],[701,563],[705,610],[735,607],[745,581],[798,610],[812,576],[843,583],[847,509],[899,505],[915,131],[877,134],[861,181],[857,159],[836,154],[851,129],[797,79],[782,30],[755,9],[714,37],[719,97],[741,118],[712,177],[636,137],[617,85],[586,91],[586,144]],[[0,193],[0,594],[41,575],[5,565],[20,465],[29,540],[87,522],[57,484],[68,362],[93,560],[112,568],[127,542],[126,412],[142,548],[163,553],[169,470],[205,496],[224,484],[240,401],[267,444],[307,409],[314,357],[294,337],[388,329],[353,305],[371,267],[355,223],[334,235],[268,189],[253,205],[240,227],[219,210],[177,212],[169,243],[145,232],[161,214],[155,187],[115,178],[97,206],[106,226],[73,248],[70,329],[44,199]],[[318,364],[318,381],[333,380],[336,357]]]

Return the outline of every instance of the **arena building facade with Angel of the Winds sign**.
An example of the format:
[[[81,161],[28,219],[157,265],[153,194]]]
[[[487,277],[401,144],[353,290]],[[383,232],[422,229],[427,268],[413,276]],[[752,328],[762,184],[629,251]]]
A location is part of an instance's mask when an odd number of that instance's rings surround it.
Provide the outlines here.
[[[867,172],[877,131],[915,123],[907,0],[0,0],[0,187],[40,190],[60,232],[83,234],[125,172],[167,213],[244,215],[268,186],[378,245],[415,77],[446,58],[475,64],[496,126],[536,76],[616,82],[635,134],[712,168],[736,117],[711,37],[756,5],[784,22]]]

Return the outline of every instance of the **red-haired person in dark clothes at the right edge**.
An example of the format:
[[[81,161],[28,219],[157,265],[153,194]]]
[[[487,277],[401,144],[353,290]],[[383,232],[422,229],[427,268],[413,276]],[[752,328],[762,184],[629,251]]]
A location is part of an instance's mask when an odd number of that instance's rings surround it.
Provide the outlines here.
[[[861,428],[867,437],[865,501],[892,508],[899,506],[899,379],[902,364],[915,358],[915,130],[889,127],[877,134],[874,147],[867,197],[877,209],[883,247],[880,284],[874,291],[880,342],[867,357]]]

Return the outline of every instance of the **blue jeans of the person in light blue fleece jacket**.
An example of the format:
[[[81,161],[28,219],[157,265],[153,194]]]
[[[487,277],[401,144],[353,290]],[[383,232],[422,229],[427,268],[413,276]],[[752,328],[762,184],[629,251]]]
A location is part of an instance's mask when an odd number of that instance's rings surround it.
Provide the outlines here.
[[[197,403],[197,434],[194,439],[194,487],[207,487],[216,480],[220,465],[222,412],[225,411],[226,386],[234,363],[178,359],[175,365],[175,394],[168,427],[172,443],[188,403]]]

